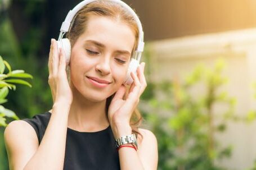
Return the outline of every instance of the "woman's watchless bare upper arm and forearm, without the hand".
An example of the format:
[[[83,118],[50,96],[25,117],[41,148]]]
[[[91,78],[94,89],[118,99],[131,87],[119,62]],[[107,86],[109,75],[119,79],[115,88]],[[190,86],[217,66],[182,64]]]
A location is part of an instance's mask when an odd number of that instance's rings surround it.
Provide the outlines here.
[[[5,143],[10,169],[63,169],[68,126],[68,109],[53,106],[41,144],[34,129],[24,121],[6,127]],[[30,127],[29,127],[30,126]]]

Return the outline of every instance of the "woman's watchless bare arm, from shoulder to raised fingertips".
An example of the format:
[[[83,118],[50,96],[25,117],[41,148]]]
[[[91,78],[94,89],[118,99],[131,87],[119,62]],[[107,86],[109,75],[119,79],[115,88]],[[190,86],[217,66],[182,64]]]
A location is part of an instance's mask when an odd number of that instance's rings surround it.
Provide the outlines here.
[[[53,97],[52,115],[41,144],[33,128],[24,121],[14,121],[6,127],[5,143],[10,168],[63,169],[68,115],[73,94],[66,76],[66,62],[52,39],[49,54],[49,80]],[[25,123],[25,124],[24,124]]]

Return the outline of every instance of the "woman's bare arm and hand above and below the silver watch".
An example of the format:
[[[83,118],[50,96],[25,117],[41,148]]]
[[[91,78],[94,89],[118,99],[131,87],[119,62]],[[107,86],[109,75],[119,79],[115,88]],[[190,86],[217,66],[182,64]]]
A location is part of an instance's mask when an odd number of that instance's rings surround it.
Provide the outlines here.
[[[110,125],[113,130],[115,139],[124,135],[132,134],[130,126],[130,119],[132,112],[137,106],[140,96],[145,90],[147,84],[143,74],[145,63],[137,68],[137,75],[131,72],[133,84],[129,88],[127,97],[124,99],[126,89],[121,86],[116,91],[114,98],[109,106],[108,117]],[[155,170],[158,166],[158,143],[155,135],[149,130],[142,130],[140,132],[143,139],[138,142],[138,150],[133,148],[123,147],[120,148],[119,161],[122,170]]]

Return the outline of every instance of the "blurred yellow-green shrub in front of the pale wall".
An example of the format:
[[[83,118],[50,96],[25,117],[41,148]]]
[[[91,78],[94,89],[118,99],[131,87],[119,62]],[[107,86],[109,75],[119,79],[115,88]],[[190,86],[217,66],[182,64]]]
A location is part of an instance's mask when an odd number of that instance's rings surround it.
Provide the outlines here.
[[[238,119],[236,100],[221,89],[223,68],[219,60],[213,70],[197,66],[182,83],[150,85],[155,93],[141,109],[158,139],[159,169],[223,169],[215,162],[230,157],[232,147],[221,146],[215,135],[226,130],[227,120]],[[226,111],[216,113],[218,105]]]

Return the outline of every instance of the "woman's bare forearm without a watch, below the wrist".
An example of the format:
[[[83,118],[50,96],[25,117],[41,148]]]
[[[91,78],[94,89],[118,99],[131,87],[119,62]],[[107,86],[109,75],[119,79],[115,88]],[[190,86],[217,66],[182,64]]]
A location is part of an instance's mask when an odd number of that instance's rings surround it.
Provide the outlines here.
[[[69,109],[54,105],[42,142],[24,169],[63,169]],[[65,112],[65,113],[64,113]]]

